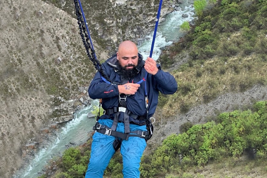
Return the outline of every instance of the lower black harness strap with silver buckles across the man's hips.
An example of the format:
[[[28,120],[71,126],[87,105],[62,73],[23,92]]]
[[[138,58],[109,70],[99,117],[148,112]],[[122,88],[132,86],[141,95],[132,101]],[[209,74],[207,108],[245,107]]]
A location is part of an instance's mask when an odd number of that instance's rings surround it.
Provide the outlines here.
[[[149,131],[141,131],[141,130],[135,130],[130,132],[129,134],[124,134],[121,132],[117,132],[115,130],[111,130],[111,128],[101,125],[99,123],[96,123],[96,125],[93,127],[93,130],[96,130],[97,132],[104,134],[104,135],[111,135],[114,137],[119,137],[123,140],[128,140],[129,137],[140,137],[140,138],[148,138],[149,137]]]

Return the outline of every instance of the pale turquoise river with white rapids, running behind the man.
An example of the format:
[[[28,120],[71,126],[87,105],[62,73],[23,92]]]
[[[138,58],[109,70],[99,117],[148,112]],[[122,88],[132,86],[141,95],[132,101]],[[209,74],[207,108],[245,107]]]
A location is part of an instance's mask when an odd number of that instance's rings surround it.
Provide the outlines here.
[[[188,4],[187,1],[181,4],[181,10],[168,14],[165,20],[161,22],[157,29],[157,36],[155,39],[152,58],[157,60],[161,54],[160,48],[171,45],[173,42],[179,41],[179,38],[184,34],[180,32],[180,25],[184,21],[193,20],[194,8]],[[182,14],[186,13],[188,17],[182,17]],[[153,39],[153,31],[146,37],[146,40],[138,46],[139,52],[146,59],[150,55],[150,48]],[[88,134],[92,132],[92,127],[96,120],[87,118],[87,114],[92,112],[93,106],[98,105],[99,101],[92,101],[92,105],[81,109],[76,112],[74,119],[66,124],[64,128],[54,137],[54,141],[48,148],[41,148],[38,153],[35,154],[34,159],[24,169],[17,173],[15,178],[37,178],[38,172],[42,172],[44,166],[56,155],[62,155],[63,151],[67,149],[66,145],[70,145],[70,142],[81,144],[86,142]]]

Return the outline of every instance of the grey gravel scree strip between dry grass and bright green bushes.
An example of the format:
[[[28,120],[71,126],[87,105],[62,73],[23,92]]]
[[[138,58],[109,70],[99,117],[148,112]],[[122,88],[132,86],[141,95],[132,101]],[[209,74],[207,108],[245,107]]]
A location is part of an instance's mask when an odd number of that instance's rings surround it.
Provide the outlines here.
[[[150,148],[155,148],[158,143],[170,134],[179,134],[179,127],[190,121],[193,124],[205,123],[207,120],[214,119],[219,113],[230,112],[236,109],[249,109],[256,101],[267,100],[267,86],[256,85],[245,92],[226,93],[215,100],[195,106],[186,114],[177,114],[171,118],[163,118],[160,109],[157,110],[154,117],[154,134],[148,144]]]

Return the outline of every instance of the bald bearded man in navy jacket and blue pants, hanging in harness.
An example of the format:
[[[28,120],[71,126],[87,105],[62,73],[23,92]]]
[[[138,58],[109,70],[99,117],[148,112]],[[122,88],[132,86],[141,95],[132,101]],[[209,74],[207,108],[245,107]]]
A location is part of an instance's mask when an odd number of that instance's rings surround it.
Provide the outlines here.
[[[85,178],[103,177],[115,149],[119,147],[124,178],[140,176],[141,156],[146,148],[144,138],[148,133],[146,124],[156,110],[159,91],[173,94],[177,90],[177,83],[171,74],[163,72],[152,58],[146,61],[142,58],[135,43],[123,41],[117,54],[102,64],[110,81],[117,84],[103,82],[100,74],[96,73],[89,86],[90,98],[102,98],[106,113],[100,116],[95,127],[97,132],[93,135]],[[142,79],[145,81],[136,84]]]

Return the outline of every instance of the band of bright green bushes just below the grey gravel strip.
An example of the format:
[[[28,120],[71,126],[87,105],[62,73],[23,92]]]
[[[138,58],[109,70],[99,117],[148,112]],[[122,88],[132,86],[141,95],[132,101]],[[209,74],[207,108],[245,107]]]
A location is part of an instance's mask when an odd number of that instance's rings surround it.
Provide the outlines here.
[[[164,176],[189,166],[203,166],[210,160],[239,157],[252,148],[257,150],[256,157],[266,159],[267,101],[256,103],[254,108],[257,109],[254,113],[250,110],[221,113],[217,124],[184,123],[180,130],[184,128],[185,132],[170,135],[153,155],[142,159],[141,177]]]

